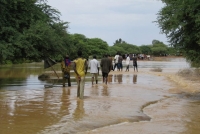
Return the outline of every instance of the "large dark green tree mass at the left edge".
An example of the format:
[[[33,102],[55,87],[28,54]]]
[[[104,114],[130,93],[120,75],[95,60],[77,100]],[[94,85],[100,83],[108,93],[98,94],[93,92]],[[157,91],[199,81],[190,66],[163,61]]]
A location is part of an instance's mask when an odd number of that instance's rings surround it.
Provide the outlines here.
[[[0,1],[0,62],[40,61],[62,54],[67,22],[45,0]]]

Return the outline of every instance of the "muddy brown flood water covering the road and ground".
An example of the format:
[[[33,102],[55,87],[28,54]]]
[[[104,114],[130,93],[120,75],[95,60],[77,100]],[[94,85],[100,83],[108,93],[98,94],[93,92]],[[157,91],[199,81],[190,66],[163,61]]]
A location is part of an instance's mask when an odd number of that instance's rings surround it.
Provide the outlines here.
[[[54,79],[55,85],[45,88],[52,81],[38,76],[51,69],[43,66],[0,66],[0,134],[200,132],[200,94],[179,92],[183,87],[164,75],[190,68],[183,58],[138,61],[139,72],[112,71],[107,86],[101,75],[92,86],[88,73],[83,100],[76,97],[73,72],[71,87]],[[152,68],[163,72],[150,72]],[[59,73],[60,64],[54,69]]]

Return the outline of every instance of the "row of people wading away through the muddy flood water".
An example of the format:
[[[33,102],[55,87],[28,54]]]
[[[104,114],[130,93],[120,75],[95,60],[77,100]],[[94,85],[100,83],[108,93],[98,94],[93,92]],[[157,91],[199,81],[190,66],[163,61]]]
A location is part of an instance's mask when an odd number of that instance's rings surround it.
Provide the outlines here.
[[[113,58],[105,54],[101,59],[100,63],[97,60],[97,57],[94,55],[93,59],[88,61],[87,59],[82,57],[82,51],[78,51],[77,53],[78,58],[73,61],[73,65],[71,65],[72,61],[70,60],[69,56],[66,55],[64,60],[61,62],[61,70],[62,70],[62,77],[63,77],[63,87],[65,87],[65,83],[67,80],[68,86],[71,86],[70,80],[70,70],[71,66],[73,67],[76,81],[77,81],[77,97],[83,99],[84,96],[84,86],[85,86],[85,76],[88,71],[88,67],[90,68],[90,73],[92,75],[92,85],[94,83],[98,84],[98,75],[99,69],[101,67],[103,83],[107,85],[108,82],[108,74],[110,71],[115,71],[117,67],[118,71],[122,71],[123,68],[123,58],[120,53],[117,53]],[[114,65],[113,65],[114,61]],[[130,64],[130,57],[129,55],[126,56],[126,71],[129,71],[129,64]],[[133,67],[134,71],[138,71],[137,69],[137,57],[134,55],[133,57]]]

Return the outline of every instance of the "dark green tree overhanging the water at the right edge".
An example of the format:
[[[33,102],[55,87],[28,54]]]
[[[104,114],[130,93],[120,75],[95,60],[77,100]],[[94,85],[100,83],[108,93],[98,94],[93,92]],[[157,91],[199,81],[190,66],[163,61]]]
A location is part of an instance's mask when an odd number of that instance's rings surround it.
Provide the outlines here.
[[[157,23],[169,42],[184,56],[200,66],[200,2],[198,0],[162,0]]]

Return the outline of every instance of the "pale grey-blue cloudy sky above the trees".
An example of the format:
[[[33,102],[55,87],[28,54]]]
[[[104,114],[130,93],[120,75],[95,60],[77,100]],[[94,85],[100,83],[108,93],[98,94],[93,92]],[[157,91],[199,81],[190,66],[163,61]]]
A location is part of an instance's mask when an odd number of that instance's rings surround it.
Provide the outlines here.
[[[121,38],[133,45],[149,45],[153,39],[167,43],[156,23],[163,7],[160,0],[48,0],[69,22],[68,32],[101,38],[108,45]]]

